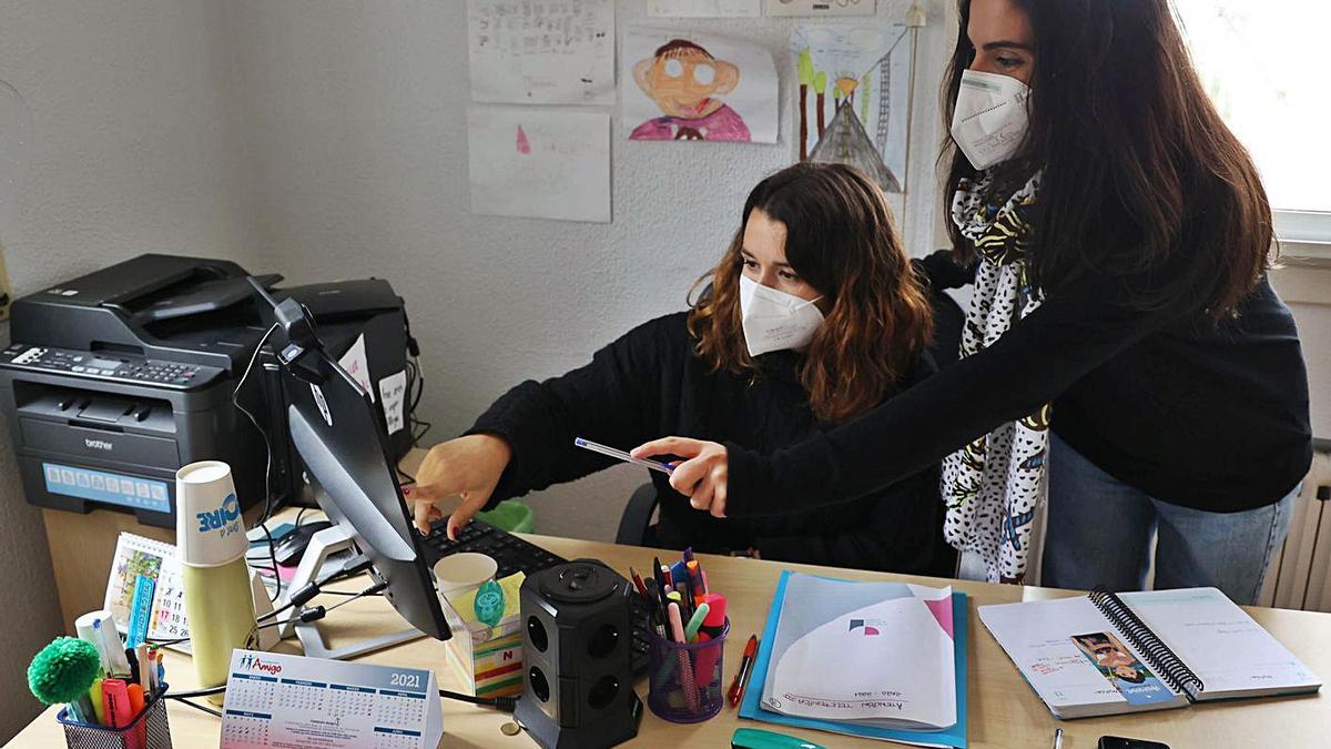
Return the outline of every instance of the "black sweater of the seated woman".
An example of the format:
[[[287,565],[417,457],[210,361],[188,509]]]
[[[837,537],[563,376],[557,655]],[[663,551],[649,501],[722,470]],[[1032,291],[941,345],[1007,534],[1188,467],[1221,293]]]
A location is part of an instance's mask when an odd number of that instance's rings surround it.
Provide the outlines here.
[[[512,448],[487,508],[619,465],[575,448],[574,437],[628,449],[679,434],[772,452],[828,428],[813,417],[797,380],[799,355],[757,357],[760,376],[753,381],[709,372],[693,353],[685,317],[681,312],[652,320],[596,352],[586,367],[544,382],[522,382],[495,401],[470,429],[498,434]],[[922,357],[901,386],[933,369]],[[666,546],[716,553],[755,546],[772,560],[926,574],[953,570],[942,541],[936,465],[917,468],[890,488],[861,493],[835,512],[764,517],[756,506],[745,520],[695,510],[666,476],[651,472],[651,478],[660,496],[658,540]]]

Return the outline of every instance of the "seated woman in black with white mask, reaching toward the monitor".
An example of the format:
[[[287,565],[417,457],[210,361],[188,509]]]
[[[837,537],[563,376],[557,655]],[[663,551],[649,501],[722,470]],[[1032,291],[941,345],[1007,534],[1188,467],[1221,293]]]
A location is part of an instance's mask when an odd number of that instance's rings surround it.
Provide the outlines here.
[[[455,537],[500,500],[615,465],[574,446],[696,434],[771,452],[855,418],[929,376],[928,296],[886,201],[860,172],[797,164],[749,193],[740,229],[688,312],[646,323],[591,364],[508,390],[435,445],[407,498],[422,532],[454,494]],[[695,287],[697,288],[697,287]],[[831,510],[748,520],[697,512],[652,472],[655,544],[699,552],[952,574],[938,470]]]

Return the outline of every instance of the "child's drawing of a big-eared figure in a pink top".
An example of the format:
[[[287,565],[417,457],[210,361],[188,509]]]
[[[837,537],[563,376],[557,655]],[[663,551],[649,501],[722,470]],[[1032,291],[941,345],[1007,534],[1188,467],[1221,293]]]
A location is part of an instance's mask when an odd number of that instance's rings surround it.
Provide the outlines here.
[[[776,143],[776,67],[760,47],[630,29],[623,73],[630,140]]]

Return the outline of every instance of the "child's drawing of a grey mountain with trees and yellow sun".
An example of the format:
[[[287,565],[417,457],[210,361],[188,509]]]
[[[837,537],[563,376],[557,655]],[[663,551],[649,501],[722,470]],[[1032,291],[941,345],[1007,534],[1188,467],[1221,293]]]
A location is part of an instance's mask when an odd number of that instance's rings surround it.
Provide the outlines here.
[[[851,164],[901,192],[913,39],[877,21],[796,27],[800,161]]]

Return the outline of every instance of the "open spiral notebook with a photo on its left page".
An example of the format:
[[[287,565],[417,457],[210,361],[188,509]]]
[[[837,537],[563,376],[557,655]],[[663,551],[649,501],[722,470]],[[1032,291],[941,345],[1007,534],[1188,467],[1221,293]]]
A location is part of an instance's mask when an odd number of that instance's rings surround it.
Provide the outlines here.
[[[1058,718],[1316,692],[1322,680],[1215,588],[980,606]]]

